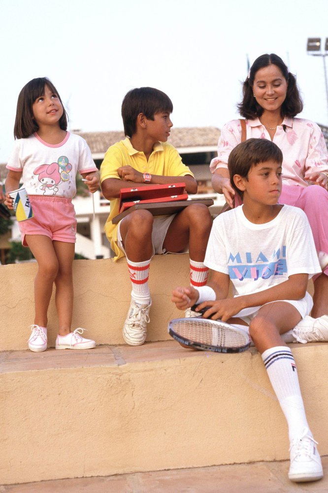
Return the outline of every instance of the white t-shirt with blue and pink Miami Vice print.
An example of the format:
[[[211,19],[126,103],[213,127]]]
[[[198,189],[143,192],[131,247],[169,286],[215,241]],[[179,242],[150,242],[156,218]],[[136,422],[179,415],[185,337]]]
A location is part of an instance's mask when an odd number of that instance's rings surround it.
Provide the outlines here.
[[[243,206],[214,222],[204,264],[230,276],[233,295],[257,293],[290,275],[321,272],[310,225],[304,212],[284,205],[265,224],[246,219]]]

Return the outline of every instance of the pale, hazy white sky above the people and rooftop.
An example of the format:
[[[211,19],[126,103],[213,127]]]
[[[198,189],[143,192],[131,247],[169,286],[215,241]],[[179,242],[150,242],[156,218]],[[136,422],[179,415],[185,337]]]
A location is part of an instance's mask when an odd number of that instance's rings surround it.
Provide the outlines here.
[[[221,128],[238,117],[247,57],[276,53],[297,76],[301,116],[328,125],[324,59],[306,52],[307,38],[328,37],[328,0],[1,0],[0,18],[0,163],[34,77],[52,80],[70,130],[122,130],[123,97],[141,86],[168,94],[175,127]]]

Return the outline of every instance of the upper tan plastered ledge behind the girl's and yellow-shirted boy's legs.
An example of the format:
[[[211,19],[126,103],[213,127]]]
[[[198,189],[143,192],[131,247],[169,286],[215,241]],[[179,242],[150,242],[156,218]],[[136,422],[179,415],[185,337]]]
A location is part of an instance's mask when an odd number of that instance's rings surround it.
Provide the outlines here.
[[[24,350],[34,318],[33,281],[36,263],[1,265],[0,351]],[[124,344],[122,328],[131,298],[131,281],[126,259],[117,263],[107,260],[75,260],[74,310],[72,327],[90,330],[86,337],[97,344]],[[147,341],[169,339],[167,324],[182,316],[171,303],[172,289],[189,284],[189,256],[155,256],[150,267],[153,300]],[[54,288],[55,293],[55,288]],[[48,346],[54,347],[58,333],[55,296],[48,310]]]

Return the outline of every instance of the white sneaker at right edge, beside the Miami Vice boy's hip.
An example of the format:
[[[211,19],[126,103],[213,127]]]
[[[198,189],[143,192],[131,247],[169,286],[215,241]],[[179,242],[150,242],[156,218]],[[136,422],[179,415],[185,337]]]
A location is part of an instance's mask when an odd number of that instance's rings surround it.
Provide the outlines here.
[[[328,315],[319,318],[312,318],[306,315],[293,329],[293,336],[296,341],[306,344],[306,342],[327,342],[328,341]]]

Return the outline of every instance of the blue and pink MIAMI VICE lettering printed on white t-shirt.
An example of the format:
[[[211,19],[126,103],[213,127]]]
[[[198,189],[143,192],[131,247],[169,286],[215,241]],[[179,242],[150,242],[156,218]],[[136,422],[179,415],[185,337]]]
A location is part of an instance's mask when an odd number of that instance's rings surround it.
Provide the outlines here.
[[[272,276],[285,276],[287,274],[286,246],[273,249],[271,258],[265,256],[261,251],[255,256],[251,252],[245,252],[244,259],[238,252],[229,256],[230,279],[268,279]]]

